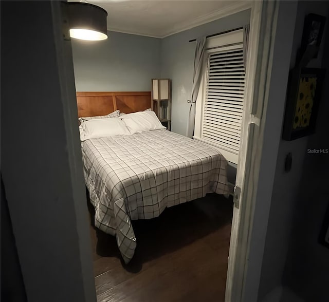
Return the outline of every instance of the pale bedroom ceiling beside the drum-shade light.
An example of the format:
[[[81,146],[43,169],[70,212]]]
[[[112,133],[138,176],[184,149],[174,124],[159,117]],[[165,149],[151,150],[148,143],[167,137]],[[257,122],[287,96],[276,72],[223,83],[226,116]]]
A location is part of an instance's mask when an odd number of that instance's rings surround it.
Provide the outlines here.
[[[250,7],[249,1],[88,0],[107,11],[107,30],[166,37]]]

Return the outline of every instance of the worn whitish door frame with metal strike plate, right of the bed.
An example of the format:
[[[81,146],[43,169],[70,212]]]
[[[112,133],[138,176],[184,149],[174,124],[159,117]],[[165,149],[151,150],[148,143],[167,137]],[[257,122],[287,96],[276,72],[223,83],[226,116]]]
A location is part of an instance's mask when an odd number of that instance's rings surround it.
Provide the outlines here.
[[[271,65],[269,52],[266,57],[261,57],[262,44],[268,43],[270,37],[261,31],[261,24],[267,13],[263,12],[264,2],[254,1],[251,7],[249,42],[246,63],[246,88],[244,99],[244,110],[241,126],[241,141],[239,160],[237,163],[235,188],[233,194],[234,209],[232,218],[232,229],[229,249],[228,270],[226,278],[225,302],[243,301],[244,284],[246,283],[246,259],[248,259],[250,236],[255,209],[255,198],[253,194],[245,190],[253,182],[253,189],[257,191],[258,176],[261,156],[256,157],[257,148],[254,148],[254,140],[260,135],[260,116],[257,115],[257,97],[261,89],[257,79],[260,79],[269,68],[259,68],[262,61]],[[277,22],[277,15],[272,16],[272,22]],[[265,41],[264,41],[265,40]],[[266,74],[265,74],[266,77]],[[268,87],[267,87],[268,88]],[[266,89],[266,88],[265,88]],[[263,99],[263,102],[265,100]],[[256,134],[258,132],[258,135]],[[260,150],[261,153],[261,150]],[[253,159],[253,165],[252,165]],[[258,170],[258,171],[257,171]],[[249,171],[249,173],[248,173]],[[252,176],[254,176],[251,179]],[[239,188],[236,190],[236,188]]]

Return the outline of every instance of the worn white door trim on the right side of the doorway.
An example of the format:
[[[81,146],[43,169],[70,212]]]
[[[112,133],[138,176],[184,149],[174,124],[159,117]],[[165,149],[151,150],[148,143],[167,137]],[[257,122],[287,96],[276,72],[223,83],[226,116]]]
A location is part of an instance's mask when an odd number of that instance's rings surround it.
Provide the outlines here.
[[[278,19],[278,2],[254,1],[250,16],[250,35],[246,66],[246,89],[236,186],[241,188],[239,202],[234,196],[226,302],[244,301],[244,286],[250,249],[250,234],[255,209],[255,193],[262,155],[265,115],[268,101],[273,47]],[[248,188],[248,190],[244,190]],[[261,259],[260,259],[261,261]],[[258,286],[257,286],[258,291]],[[257,293],[254,293],[257,297]],[[250,297],[251,298],[251,297]],[[253,298],[251,298],[252,301]],[[250,300],[250,301],[251,301]]]

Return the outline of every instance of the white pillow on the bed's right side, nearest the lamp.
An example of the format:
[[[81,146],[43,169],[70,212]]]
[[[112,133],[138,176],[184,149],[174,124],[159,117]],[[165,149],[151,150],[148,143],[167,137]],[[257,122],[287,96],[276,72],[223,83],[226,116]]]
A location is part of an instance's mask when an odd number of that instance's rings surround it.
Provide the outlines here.
[[[120,117],[131,134],[143,131],[166,129],[154,111],[140,111]]]

